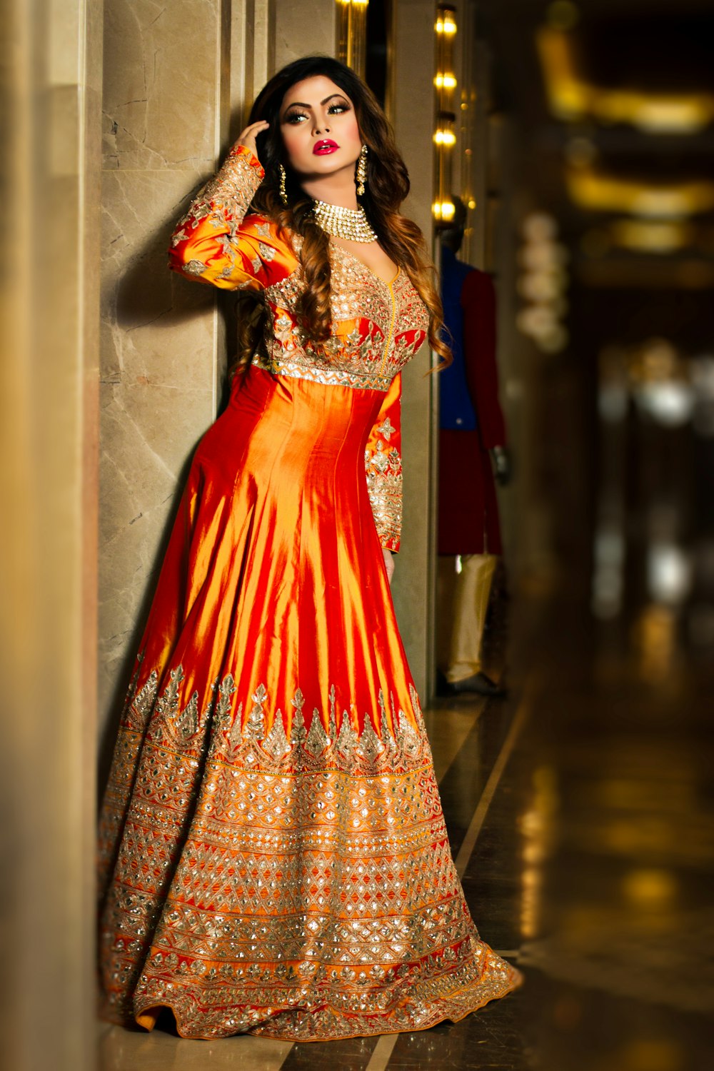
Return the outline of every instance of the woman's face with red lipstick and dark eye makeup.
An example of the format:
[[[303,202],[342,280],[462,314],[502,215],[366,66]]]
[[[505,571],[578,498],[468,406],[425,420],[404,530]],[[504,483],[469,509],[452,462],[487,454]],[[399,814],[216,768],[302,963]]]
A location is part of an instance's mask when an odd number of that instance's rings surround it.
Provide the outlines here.
[[[299,175],[334,175],[354,167],[362,139],[349,96],[324,75],[291,86],[280,106],[280,133]]]

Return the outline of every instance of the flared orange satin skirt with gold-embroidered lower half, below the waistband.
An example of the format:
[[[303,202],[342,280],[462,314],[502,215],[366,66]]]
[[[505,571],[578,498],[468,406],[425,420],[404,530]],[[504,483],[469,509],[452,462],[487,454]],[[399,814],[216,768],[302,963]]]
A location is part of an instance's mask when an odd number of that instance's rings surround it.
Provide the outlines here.
[[[452,861],[365,480],[382,398],[252,368],[198,447],[101,815],[112,1022],[325,1040],[521,980]]]

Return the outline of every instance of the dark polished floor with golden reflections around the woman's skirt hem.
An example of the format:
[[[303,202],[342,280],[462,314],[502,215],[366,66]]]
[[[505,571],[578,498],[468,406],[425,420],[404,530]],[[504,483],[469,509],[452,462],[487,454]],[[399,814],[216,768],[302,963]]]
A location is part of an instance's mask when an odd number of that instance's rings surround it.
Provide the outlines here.
[[[427,724],[467,900],[525,986],[343,1042],[101,1025],[102,1071],[711,1071],[712,660],[653,660],[572,592],[519,595],[507,619],[488,637],[507,698],[441,702]]]

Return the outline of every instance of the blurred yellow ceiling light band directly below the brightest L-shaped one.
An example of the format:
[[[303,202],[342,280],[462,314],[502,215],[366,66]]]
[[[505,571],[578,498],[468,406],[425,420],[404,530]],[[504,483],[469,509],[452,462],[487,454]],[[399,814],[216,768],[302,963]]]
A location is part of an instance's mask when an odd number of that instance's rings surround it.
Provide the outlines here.
[[[714,182],[650,185],[618,179],[588,168],[566,171],[571,198],[580,208],[602,212],[628,212],[650,218],[682,217],[714,209]]]

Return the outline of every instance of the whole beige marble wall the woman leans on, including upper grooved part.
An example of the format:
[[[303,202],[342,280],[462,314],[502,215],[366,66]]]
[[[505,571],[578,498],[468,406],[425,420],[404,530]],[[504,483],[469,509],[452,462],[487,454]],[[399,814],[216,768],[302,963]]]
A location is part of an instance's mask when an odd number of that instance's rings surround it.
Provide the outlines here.
[[[105,0],[100,720],[111,746],[228,303],[166,269],[174,221],[274,70],[334,52],[334,0]]]

